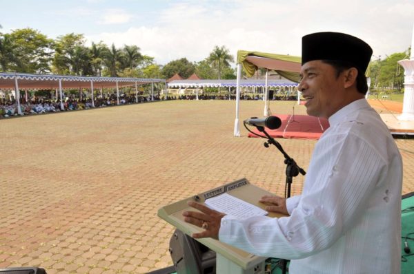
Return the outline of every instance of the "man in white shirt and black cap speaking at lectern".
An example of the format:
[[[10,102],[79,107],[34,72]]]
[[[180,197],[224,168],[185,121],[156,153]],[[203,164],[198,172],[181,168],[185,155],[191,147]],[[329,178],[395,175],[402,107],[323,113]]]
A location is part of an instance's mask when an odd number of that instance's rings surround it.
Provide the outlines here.
[[[183,213],[203,227],[194,238],[218,238],[249,253],[291,260],[289,273],[400,273],[402,158],[380,116],[364,98],[372,49],[348,34],[302,39],[298,89],[309,115],[328,118],[303,193],[265,196],[284,218],[235,220],[189,202]]]

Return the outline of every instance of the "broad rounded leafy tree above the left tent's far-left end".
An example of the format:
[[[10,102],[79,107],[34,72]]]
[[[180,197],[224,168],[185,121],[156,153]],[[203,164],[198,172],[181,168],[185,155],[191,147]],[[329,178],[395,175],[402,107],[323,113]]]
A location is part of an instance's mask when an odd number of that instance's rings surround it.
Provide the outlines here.
[[[14,62],[10,63],[10,70],[26,73],[50,72],[52,60],[52,39],[37,30],[23,28],[14,30],[8,36],[9,56]]]

